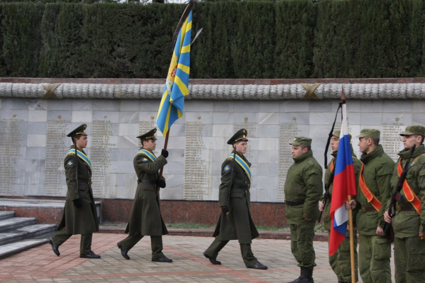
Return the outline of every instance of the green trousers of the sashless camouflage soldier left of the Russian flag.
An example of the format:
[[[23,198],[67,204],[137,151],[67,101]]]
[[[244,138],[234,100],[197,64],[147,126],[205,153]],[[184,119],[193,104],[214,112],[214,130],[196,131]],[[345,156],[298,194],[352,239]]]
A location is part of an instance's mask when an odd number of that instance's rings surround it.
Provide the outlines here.
[[[316,266],[313,238],[314,223],[290,225],[290,250],[299,267],[310,269]]]

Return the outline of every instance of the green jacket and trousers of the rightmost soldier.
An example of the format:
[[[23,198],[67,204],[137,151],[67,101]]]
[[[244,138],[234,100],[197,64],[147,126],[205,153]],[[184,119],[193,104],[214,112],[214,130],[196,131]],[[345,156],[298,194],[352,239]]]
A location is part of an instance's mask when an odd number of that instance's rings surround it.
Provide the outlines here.
[[[419,231],[425,231],[425,147],[418,146],[410,159],[410,167],[406,180],[421,203],[420,215],[414,210],[396,211],[392,218],[394,229],[394,265],[395,281],[397,283],[423,282],[425,275],[425,240],[418,237]],[[410,156],[410,150],[398,153],[401,158],[401,168]],[[400,159],[397,161],[397,165]],[[398,182],[397,165],[391,178],[392,192]],[[410,208],[412,205],[405,199],[403,190],[397,205]],[[389,202],[388,202],[389,204]]]

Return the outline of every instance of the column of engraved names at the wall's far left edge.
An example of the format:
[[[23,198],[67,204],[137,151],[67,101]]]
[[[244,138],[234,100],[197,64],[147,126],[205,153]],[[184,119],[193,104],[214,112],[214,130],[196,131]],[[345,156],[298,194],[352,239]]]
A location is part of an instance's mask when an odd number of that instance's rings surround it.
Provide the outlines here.
[[[0,194],[14,195],[15,161],[19,157],[20,131],[17,119],[2,119],[0,126]]]

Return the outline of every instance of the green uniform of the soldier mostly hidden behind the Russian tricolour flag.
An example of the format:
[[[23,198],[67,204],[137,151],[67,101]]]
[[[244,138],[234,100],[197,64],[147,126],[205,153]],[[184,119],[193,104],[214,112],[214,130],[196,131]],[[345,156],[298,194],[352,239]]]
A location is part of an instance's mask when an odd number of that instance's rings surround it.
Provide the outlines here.
[[[350,144],[351,146],[351,144]],[[358,185],[358,174],[360,173],[360,168],[361,168],[361,161],[357,159],[357,157],[355,156],[355,154],[353,153],[353,149],[351,146],[351,153],[352,153],[352,161],[353,161],[353,165],[354,165],[354,174],[355,174],[355,180],[356,183]],[[336,154],[337,151],[332,152],[332,156],[333,159],[332,161],[329,162],[329,164],[327,165],[326,171],[324,172],[324,181],[327,182],[329,180],[330,177],[330,164],[332,162],[336,161]],[[335,163],[334,163],[335,164]],[[329,185],[329,198],[326,201],[326,205],[323,209],[323,227],[328,231],[328,237],[329,237],[329,232],[330,232],[330,202],[331,202],[331,198],[332,198],[332,189],[333,189],[333,182]],[[324,195],[322,196],[323,199]],[[353,221],[355,220],[355,214],[353,211]],[[355,226],[355,225],[354,225]],[[355,275],[356,275],[356,280],[355,282],[357,282],[357,268],[358,268],[358,264],[357,264],[357,231],[354,230],[354,261],[355,261]],[[329,265],[332,268],[333,272],[335,273],[335,275],[338,278],[338,281],[340,282],[351,282],[351,266],[350,266],[350,246],[349,246],[349,233],[347,231],[347,234],[345,236],[344,241],[342,241],[342,243],[339,245],[338,250],[336,251],[335,254],[333,254],[332,256],[329,256]]]

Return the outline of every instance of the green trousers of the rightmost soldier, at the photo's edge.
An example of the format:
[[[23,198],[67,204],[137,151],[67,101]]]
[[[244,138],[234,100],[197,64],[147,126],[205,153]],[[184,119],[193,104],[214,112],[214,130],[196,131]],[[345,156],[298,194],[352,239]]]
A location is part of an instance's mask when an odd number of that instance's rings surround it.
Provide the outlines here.
[[[425,240],[419,237],[394,239],[396,283],[423,282],[425,275]]]

